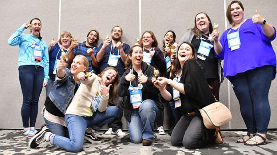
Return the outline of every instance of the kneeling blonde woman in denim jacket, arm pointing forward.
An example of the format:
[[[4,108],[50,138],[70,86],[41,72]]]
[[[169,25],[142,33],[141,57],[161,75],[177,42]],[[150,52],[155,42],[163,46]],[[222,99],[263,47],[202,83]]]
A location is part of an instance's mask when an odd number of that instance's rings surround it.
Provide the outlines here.
[[[68,137],[68,130],[64,121],[64,114],[78,87],[80,72],[87,72],[89,62],[83,55],[77,55],[71,64],[70,70],[63,60],[57,65],[57,76],[44,107],[44,121],[53,134]],[[60,78],[63,77],[63,78]],[[75,90],[75,91],[74,91]]]

